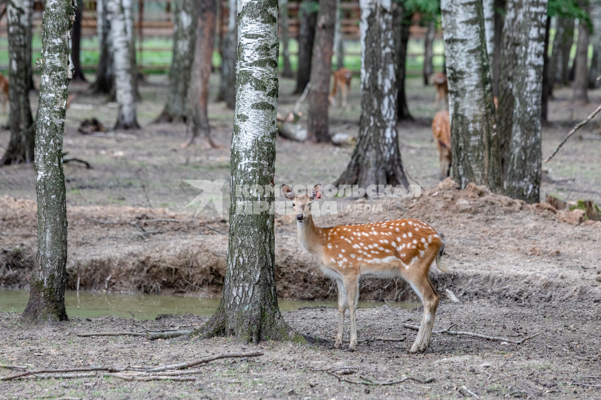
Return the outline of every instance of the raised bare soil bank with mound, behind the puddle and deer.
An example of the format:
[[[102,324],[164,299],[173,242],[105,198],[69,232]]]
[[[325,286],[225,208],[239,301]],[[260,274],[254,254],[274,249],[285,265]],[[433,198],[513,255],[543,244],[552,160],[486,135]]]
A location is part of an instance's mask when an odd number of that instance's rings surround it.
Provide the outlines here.
[[[35,259],[35,202],[0,199],[0,288],[26,287]],[[187,213],[140,207],[68,207],[67,287],[120,293],[219,294],[228,224]],[[388,219],[418,218],[447,237],[450,272],[432,270],[437,289],[462,299],[540,302],[601,298],[601,222],[526,204],[450,179],[418,198],[389,202]],[[322,216],[319,225],[374,218]],[[297,242],[296,222],[276,215],[278,294],[330,299],[336,290]],[[364,279],[363,300],[406,300],[402,279]]]

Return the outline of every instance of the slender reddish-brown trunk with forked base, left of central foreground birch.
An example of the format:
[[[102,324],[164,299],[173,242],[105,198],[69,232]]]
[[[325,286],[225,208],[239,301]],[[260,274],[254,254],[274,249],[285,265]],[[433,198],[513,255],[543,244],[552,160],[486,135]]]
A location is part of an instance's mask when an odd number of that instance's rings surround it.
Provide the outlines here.
[[[213,45],[215,44],[215,17],[217,4],[215,0],[203,0],[198,12],[198,29],[196,52],[192,67],[192,81],[189,92],[188,142],[202,134],[213,148],[216,144],[211,139],[209,125],[209,77],[211,75],[211,61],[213,59]]]

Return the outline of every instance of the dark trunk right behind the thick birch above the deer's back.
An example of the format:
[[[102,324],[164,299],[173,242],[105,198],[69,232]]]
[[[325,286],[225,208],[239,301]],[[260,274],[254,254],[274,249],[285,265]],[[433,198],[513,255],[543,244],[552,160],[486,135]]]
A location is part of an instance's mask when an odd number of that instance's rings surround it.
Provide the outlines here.
[[[411,26],[411,13],[407,13],[401,3],[394,11],[394,23],[392,29],[395,31],[396,54],[397,54],[397,119],[398,121],[413,121],[407,106],[407,94],[405,93],[405,76],[407,73],[407,44],[409,43],[409,27]]]

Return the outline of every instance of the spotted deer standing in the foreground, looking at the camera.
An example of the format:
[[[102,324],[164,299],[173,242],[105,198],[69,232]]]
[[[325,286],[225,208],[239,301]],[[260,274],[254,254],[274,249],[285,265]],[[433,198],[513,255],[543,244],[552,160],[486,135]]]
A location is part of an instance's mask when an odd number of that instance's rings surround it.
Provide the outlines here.
[[[301,244],[313,254],[326,276],[338,285],[338,332],[335,348],[343,342],[344,314],[350,314],[350,345],[357,345],[355,311],[359,278],[405,279],[424,305],[424,315],[410,352],[424,351],[430,344],[440,296],[428,276],[430,265],[446,271],[442,262],[444,235],[418,219],[393,219],[369,224],[318,227],[313,222],[311,203],[322,196],[322,185],[309,194],[296,194],[282,185],[282,194],[292,200]]]

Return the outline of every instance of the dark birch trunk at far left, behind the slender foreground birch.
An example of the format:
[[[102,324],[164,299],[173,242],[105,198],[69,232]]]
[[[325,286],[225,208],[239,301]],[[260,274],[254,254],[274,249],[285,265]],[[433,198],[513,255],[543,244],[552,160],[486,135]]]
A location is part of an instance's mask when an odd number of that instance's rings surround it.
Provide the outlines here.
[[[35,127],[29,105],[32,0],[7,2],[10,141],[0,166],[34,161]]]

